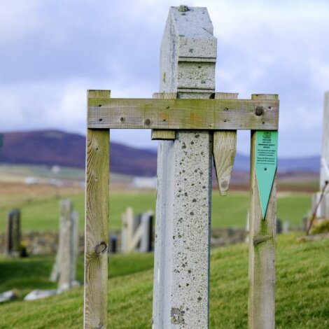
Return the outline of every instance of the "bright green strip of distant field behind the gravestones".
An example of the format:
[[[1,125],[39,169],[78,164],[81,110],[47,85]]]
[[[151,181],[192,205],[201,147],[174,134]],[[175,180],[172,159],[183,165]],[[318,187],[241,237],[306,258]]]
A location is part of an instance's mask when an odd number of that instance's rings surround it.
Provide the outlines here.
[[[132,207],[134,213],[155,210],[155,192],[132,191],[111,193],[110,196],[110,230],[121,228],[121,214]],[[72,195],[75,209],[80,214],[80,229],[84,226],[84,195]],[[212,228],[244,228],[248,211],[249,196],[246,192],[232,192],[221,197],[218,191],[212,197]],[[58,230],[59,199],[51,197],[45,200],[31,200],[18,204],[22,211],[22,230]],[[311,195],[291,194],[278,197],[278,218],[290,221],[292,226],[302,225],[302,216],[311,207]],[[8,207],[0,207],[0,231],[6,228]]]

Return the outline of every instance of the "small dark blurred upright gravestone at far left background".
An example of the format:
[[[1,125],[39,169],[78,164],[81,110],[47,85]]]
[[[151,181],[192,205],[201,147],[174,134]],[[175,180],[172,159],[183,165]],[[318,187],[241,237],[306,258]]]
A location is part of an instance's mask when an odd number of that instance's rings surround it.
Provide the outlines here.
[[[13,209],[8,213],[6,255],[20,256],[20,211],[18,209]]]

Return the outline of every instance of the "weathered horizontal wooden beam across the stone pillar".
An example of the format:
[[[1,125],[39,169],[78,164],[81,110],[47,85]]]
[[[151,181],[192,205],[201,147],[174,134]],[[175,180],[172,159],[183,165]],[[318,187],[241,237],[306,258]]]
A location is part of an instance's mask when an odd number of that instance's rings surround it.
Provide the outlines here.
[[[96,129],[278,130],[271,99],[88,98],[87,127]]]

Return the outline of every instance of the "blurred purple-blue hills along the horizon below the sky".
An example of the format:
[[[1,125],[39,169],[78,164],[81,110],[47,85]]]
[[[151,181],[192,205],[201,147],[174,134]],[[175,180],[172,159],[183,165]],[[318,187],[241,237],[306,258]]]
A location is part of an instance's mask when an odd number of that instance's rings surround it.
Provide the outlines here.
[[[85,137],[58,130],[7,132],[0,148],[0,162],[15,165],[85,167]],[[111,171],[132,176],[155,176],[157,153],[111,142]],[[318,172],[320,157],[279,159],[284,172]],[[237,154],[235,171],[249,170],[248,155]]]

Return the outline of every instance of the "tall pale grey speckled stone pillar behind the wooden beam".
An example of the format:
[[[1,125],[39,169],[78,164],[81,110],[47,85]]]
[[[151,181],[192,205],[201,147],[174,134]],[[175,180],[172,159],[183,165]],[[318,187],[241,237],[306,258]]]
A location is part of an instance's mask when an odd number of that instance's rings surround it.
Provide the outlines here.
[[[207,8],[170,8],[160,92],[211,98],[216,49]],[[179,131],[158,144],[153,328],[208,328],[211,151],[204,131]]]

